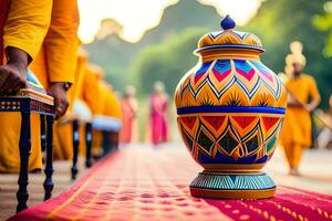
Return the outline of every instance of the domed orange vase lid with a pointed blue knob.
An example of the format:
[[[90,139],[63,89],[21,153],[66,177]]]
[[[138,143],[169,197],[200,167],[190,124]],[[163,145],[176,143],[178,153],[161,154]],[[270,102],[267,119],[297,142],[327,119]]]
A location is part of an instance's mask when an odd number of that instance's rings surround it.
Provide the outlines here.
[[[257,51],[258,54],[264,52],[258,36],[234,30],[236,22],[229,15],[221,20],[220,27],[222,31],[210,32],[200,38],[198,49],[195,51],[196,54],[201,51],[217,49],[247,49]]]

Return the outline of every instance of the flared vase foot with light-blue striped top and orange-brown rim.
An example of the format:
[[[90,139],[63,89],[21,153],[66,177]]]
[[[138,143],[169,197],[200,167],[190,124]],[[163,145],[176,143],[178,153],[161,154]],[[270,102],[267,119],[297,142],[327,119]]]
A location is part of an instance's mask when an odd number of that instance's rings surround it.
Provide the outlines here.
[[[199,198],[264,199],[276,194],[276,183],[267,173],[200,172],[190,183],[190,193]]]

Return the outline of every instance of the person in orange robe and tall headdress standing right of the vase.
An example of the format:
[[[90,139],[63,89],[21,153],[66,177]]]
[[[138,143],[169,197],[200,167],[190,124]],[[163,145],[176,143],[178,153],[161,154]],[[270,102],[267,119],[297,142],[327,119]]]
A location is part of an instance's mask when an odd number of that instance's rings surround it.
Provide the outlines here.
[[[288,91],[288,107],[279,143],[289,164],[289,173],[299,176],[303,150],[312,144],[310,113],[321,98],[314,78],[302,73],[305,66],[302,44],[292,42],[290,49],[292,53],[286,59],[286,75],[281,75]]]

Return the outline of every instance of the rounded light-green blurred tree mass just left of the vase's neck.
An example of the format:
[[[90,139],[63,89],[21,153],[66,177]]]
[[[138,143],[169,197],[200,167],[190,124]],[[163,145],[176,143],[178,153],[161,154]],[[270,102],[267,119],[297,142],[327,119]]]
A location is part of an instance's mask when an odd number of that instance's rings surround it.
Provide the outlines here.
[[[146,48],[135,60],[132,72],[135,73],[138,88],[144,94],[152,92],[155,81],[165,83],[166,91],[173,94],[180,77],[197,63],[193,54],[199,36],[206,33],[203,28],[193,28],[170,36],[163,44]]]

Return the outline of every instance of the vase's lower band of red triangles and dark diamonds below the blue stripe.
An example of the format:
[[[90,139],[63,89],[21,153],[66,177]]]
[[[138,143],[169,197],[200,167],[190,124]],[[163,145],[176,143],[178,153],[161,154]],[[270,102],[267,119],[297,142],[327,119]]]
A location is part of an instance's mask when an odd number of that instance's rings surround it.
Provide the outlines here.
[[[185,114],[178,127],[200,164],[262,164],[277,146],[283,116],[278,114]]]

